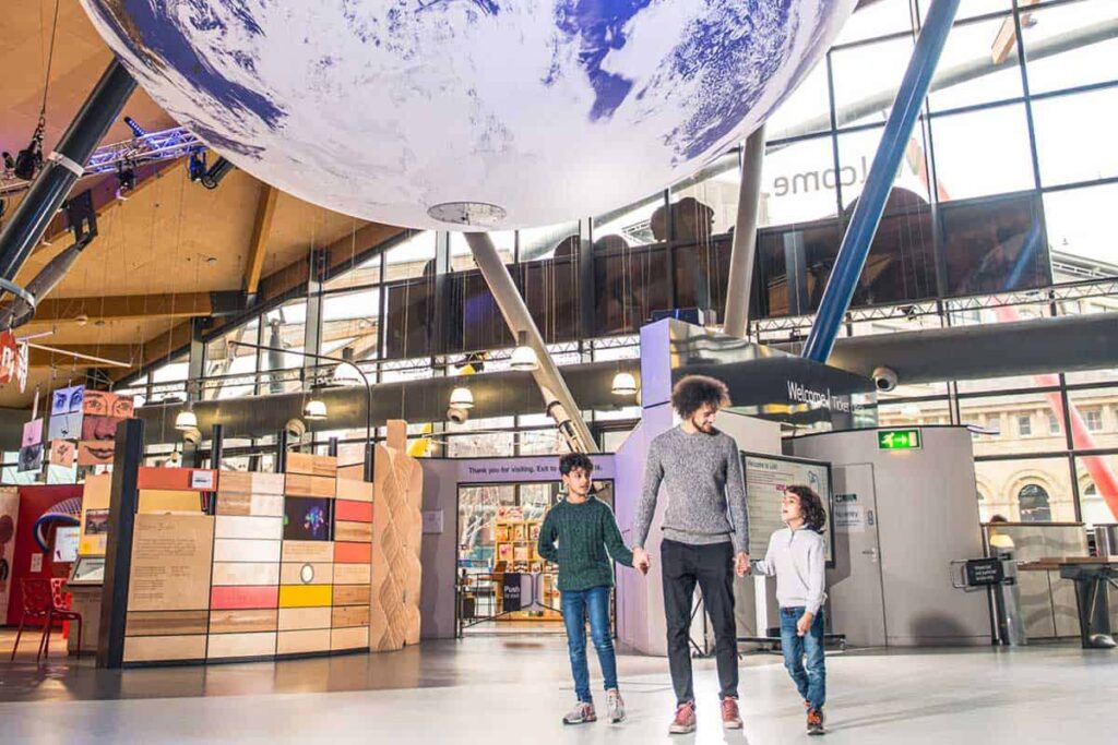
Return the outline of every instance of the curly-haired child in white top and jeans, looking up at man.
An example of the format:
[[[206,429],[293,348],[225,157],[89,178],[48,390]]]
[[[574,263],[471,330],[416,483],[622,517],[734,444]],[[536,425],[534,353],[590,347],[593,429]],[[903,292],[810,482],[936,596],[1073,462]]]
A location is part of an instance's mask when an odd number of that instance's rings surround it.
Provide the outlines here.
[[[823,660],[823,526],[826,513],[819,495],[806,486],[789,486],[780,500],[780,519],[787,526],[773,534],[761,561],[751,571],[776,576],[780,604],[780,649],[807,709],[807,734],[822,735],[826,700]],[[805,669],[804,657],[807,657]]]

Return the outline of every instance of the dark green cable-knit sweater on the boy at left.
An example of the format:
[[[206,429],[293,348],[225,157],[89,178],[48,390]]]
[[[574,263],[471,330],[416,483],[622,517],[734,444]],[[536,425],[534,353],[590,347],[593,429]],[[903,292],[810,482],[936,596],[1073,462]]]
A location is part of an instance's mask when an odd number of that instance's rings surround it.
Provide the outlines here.
[[[610,556],[625,566],[633,566],[633,552],[622,541],[614,513],[606,503],[593,496],[581,504],[563,500],[552,507],[540,527],[537,551],[543,558],[559,564],[560,592],[613,586]]]

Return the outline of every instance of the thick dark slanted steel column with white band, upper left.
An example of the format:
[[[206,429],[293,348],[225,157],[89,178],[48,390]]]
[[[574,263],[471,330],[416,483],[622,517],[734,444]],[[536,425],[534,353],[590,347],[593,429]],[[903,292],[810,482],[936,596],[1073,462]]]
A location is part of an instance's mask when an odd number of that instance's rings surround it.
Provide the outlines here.
[[[47,156],[19,209],[0,232],[0,278],[16,278],[135,87],[135,80],[113,57],[58,146]]]

